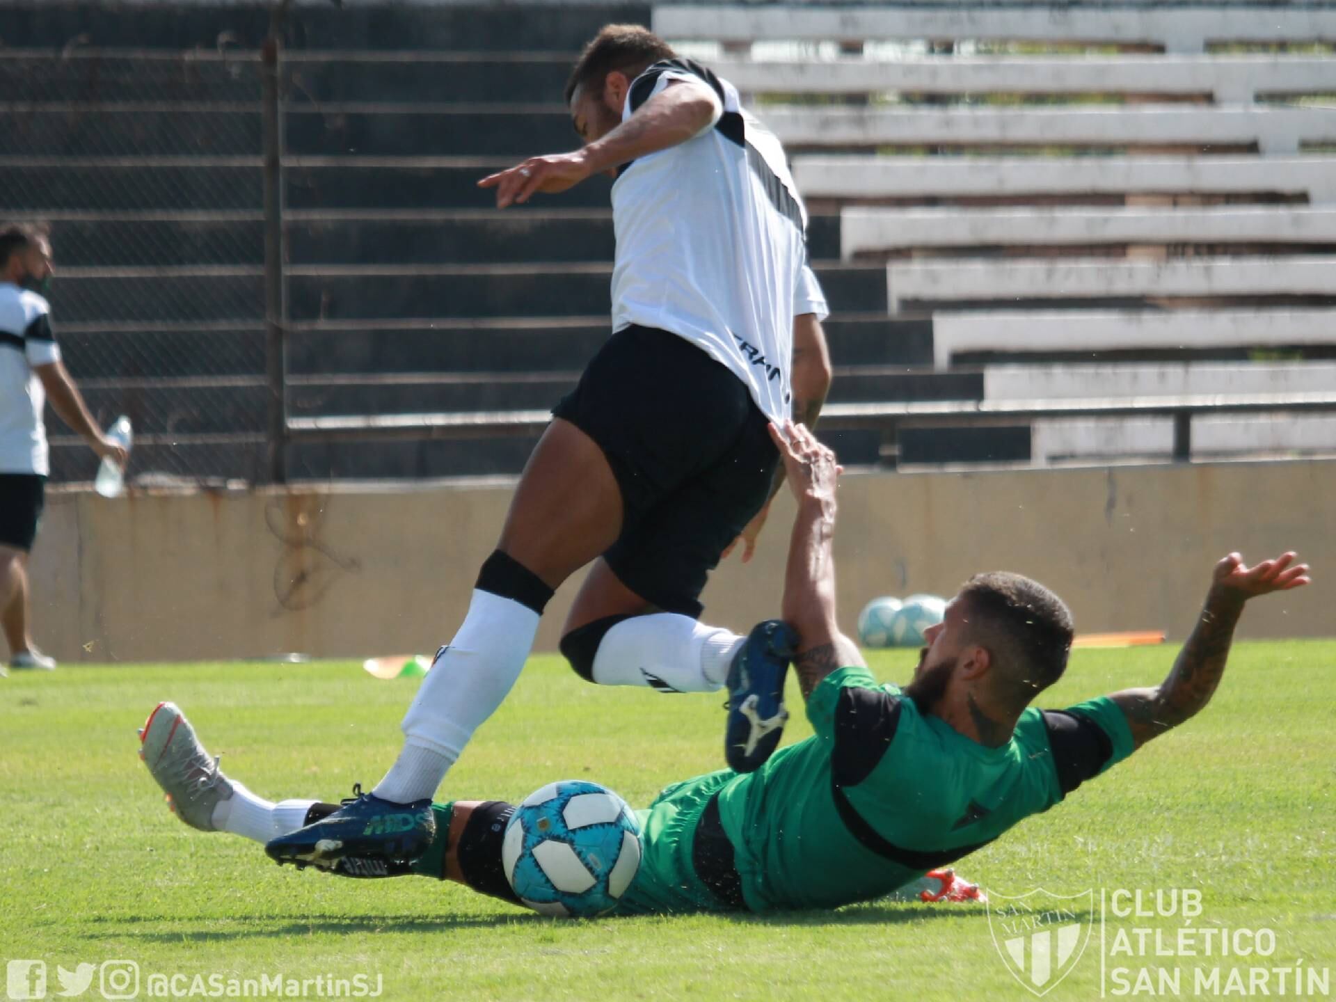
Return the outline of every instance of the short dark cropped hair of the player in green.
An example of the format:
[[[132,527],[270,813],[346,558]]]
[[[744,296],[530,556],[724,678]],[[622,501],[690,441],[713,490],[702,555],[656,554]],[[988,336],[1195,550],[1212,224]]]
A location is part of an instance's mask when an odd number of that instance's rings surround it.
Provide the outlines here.
[[[1066,604],[1038,581],[1006,570],[975,574],[961,588],[971,640],[989,648],[995,695],[1014,708],[1062,677],[1074,624]]]

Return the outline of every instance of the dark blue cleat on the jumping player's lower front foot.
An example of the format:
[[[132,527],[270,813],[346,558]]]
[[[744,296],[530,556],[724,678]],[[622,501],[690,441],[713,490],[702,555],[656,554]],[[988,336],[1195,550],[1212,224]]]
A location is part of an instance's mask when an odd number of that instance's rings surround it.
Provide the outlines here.
[[[279,835],[265,846],[275,863],[309,864],[345,876],[390,876],[385,872],[351,874],[339,860],[382,860],[402,868],[418,859],[436,838],[436,816],[429,798],[410,804],[394,804],[373,794],[353,788],[354,796],[343,806],[305,828]],[[353,864],[362,866],[362,864]]]

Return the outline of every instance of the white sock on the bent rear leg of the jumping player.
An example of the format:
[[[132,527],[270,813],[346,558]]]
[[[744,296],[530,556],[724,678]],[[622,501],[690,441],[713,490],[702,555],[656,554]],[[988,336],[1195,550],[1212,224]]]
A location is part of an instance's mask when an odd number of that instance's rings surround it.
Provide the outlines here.
[[[664,692],[715,692],[745,640],[672,612],[635,616],[604,635],[593,656],[593,680]]]

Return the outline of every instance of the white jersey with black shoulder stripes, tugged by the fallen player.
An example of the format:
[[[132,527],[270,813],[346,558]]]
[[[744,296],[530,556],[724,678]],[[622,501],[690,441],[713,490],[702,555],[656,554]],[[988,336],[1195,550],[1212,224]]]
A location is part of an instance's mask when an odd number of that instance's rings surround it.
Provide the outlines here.
[[[687,338],[782,421],[794,317],[828,313],[807,265],[807,210],[775,135],[743,111],[731,83],[689,59],[637,76],[623,122],[672,80],[705,83],[719,111],[696,138],[619,171],[612,329],[639,323]]]

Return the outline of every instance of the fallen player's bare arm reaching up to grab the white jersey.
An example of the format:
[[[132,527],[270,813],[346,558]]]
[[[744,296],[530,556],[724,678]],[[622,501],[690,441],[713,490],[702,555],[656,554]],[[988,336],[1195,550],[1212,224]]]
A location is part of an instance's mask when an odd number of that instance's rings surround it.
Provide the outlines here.
[[[798,500],[794,534],[788,544],[782,616],[798,631],[794,671],[803,699],[816,684],[846,665],[863,664],[858,645],[835,625],[835,485],[840,468],[835,453],[803,425],[774,425],[786,480]]]

